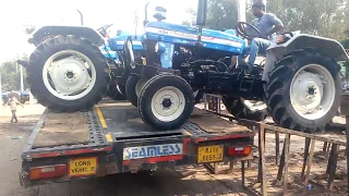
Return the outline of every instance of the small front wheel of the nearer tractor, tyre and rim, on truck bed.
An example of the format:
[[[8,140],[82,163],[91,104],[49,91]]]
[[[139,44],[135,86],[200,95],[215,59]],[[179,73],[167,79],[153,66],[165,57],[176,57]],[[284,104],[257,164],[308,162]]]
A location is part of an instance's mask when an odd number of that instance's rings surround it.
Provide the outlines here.
[[[181,127],[194,108],[191,86],[176,75],[157,75],[143,86],[139,112],[143,121],[158,131]]]

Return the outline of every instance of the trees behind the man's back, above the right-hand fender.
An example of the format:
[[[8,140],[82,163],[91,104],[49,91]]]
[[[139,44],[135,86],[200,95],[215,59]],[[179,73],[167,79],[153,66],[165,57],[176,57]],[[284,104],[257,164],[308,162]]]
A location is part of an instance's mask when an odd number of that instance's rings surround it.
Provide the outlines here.
[[[339,40],[349,27],[348,0],[268,0],[267,12],[280,17],[288,30]]]

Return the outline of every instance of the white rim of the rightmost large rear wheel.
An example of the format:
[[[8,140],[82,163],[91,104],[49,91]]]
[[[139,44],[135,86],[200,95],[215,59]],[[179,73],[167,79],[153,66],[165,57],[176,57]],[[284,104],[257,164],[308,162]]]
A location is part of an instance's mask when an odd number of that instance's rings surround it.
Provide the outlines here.
[[[320,64],[308,64],[293,76],[290,101],[294,111],[306,120],[324,117],[335,101],[335,79]]]

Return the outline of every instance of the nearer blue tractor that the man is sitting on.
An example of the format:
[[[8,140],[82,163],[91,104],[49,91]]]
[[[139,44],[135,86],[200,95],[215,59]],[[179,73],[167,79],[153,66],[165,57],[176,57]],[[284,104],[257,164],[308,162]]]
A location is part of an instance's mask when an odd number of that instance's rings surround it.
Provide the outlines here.
[[[342,46],[333,39],[290,32],[278,35],[256,72],[245,74],[244,39],[260,37],[251,24],[238,22],[231,29],[205,29],[206,0],[198,1],[196,26],[148,22],[142,44],[146,64],[133,59],[129,38],[123,58],[135,89],[143,120],[158,128],[182,125],[193,109],[192,91],[218,94],[229,112],[238,118],[262,120],[266,112],[286,128],[322,131],[339,107],[338,61],[348,61]],[[246,26],[252,32],[245,32]],[[262,102],[262,103],[261,103]]]

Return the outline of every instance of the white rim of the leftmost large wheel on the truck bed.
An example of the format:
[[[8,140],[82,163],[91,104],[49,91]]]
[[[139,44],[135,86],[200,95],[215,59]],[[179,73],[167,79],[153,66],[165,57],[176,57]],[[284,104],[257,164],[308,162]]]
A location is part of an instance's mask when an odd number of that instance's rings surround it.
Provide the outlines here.
[[[93,89],[96,70],[85,54],[75,50],[62,50],[46,61],[43,81],[53,96],[63,100],[76,100]]]

